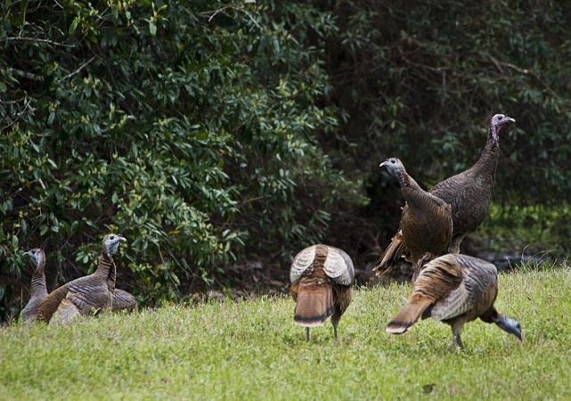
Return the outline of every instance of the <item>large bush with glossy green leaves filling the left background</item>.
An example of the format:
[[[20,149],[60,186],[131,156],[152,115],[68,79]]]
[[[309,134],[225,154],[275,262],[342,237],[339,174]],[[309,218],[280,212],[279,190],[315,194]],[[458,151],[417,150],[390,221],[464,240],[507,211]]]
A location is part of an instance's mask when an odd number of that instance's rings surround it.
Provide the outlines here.
[[[0,274],[20,274],[15,255],[44,244],[53,288],[93,269],[102,234],[118,232],[118,287],[156,302],[208,285],[245,250],[290,255],[322,238],[358,182],[314,140],[338,126],[316,104],[329,88],[322,52],[281,13],[242,1],[9,5]],[[320,12],[305,18],[332,29]]]

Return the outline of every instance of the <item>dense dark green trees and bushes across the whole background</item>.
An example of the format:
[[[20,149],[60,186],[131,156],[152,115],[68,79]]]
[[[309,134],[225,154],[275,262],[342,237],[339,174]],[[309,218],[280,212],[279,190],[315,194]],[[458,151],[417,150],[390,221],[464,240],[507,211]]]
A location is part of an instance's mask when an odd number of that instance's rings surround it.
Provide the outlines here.
[[[119,279],[147,304],[204,291],[235,260],[285,264],[314,241],[363,264],[401,203],[379,161],[397,155],[434,184],[477,158],[495,112],[518,121],[502,137],[502,222],[540,205],[558,210],[550,235],[568,236],[569,4],[2,10],[4,318],[25,295],[21,250],[45,248],[53,288],[93,269],[108,232],[129,240]]]

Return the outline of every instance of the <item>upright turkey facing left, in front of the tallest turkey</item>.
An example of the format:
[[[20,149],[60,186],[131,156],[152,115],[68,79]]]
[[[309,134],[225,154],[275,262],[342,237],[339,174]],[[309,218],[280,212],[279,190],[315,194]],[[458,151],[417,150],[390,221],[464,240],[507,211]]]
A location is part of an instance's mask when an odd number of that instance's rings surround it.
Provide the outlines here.
[[[412,262],[416,279],[420,266],[431,258],[445,253],[453,233],[452,208],[445,201],[424,191],[406,173],[401,160],[387,159],[379,167],[386,167],[396,176],[406,201],[401,215],[398,244],[408,250],[408,261]]]

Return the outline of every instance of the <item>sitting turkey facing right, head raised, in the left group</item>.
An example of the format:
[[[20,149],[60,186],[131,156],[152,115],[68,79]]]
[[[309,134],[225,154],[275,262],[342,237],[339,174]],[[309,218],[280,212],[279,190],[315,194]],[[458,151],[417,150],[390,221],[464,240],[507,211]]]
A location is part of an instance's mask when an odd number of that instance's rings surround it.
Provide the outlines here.
[[[95,272],[52,291],[40,304],[37,318],[46,323],[69,323],[77,315],[89,315],[110,309],[116,274],[112,256],[121,241],[126,241],[121,235],[105,235],[99,266]]]

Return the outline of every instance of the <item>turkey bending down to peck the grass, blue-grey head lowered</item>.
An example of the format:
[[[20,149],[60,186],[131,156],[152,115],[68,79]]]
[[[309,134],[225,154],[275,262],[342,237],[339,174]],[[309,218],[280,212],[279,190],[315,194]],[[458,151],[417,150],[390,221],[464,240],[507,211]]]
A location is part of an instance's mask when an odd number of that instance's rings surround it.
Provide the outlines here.
[[[464,323],[478,317],[495,323],[522,340],[521,326],[494,308],[498,295],[498,271],[485,260],[461,254],[436,258],[420,271],[412,295],[388,323],[387,332],[402,334],[422,316],[450,324],[453,347],[464,348],[460,335]]]

